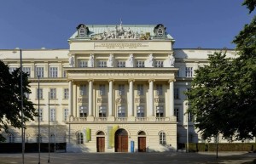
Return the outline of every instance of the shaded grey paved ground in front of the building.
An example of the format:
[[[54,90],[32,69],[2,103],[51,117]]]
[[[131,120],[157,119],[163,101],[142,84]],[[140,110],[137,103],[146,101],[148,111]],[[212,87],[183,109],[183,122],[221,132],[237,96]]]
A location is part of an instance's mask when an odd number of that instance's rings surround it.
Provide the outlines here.
[[[54,164],[246,164],[256,159],[255,153],[48,153],[40,154],[40,163]],[[0,154],[1,164],[22,163],[21,154]],[[38,153],[26,153],[26,164],[38,164]]]

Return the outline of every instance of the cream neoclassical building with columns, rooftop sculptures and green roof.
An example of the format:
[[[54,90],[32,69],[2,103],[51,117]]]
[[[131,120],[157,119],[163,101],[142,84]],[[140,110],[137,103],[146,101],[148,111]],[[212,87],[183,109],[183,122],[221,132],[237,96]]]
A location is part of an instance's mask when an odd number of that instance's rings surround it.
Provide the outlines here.
[[[80,24],[69,49],[23,49],[32,91],[26,96],[39,111],[41,141],[50,136],[69,152],[161,152],[187,139],[203,142],[185,115],[183,92],[207,54],[220,50],[175,49],[174,42],[161,24]],[[20,67],[17,49],[0,54],[10,71]],[[7,142],[21,140],[19,129],[3,134]],[[26,142],[37,140],[38,118],[26,122]]]

